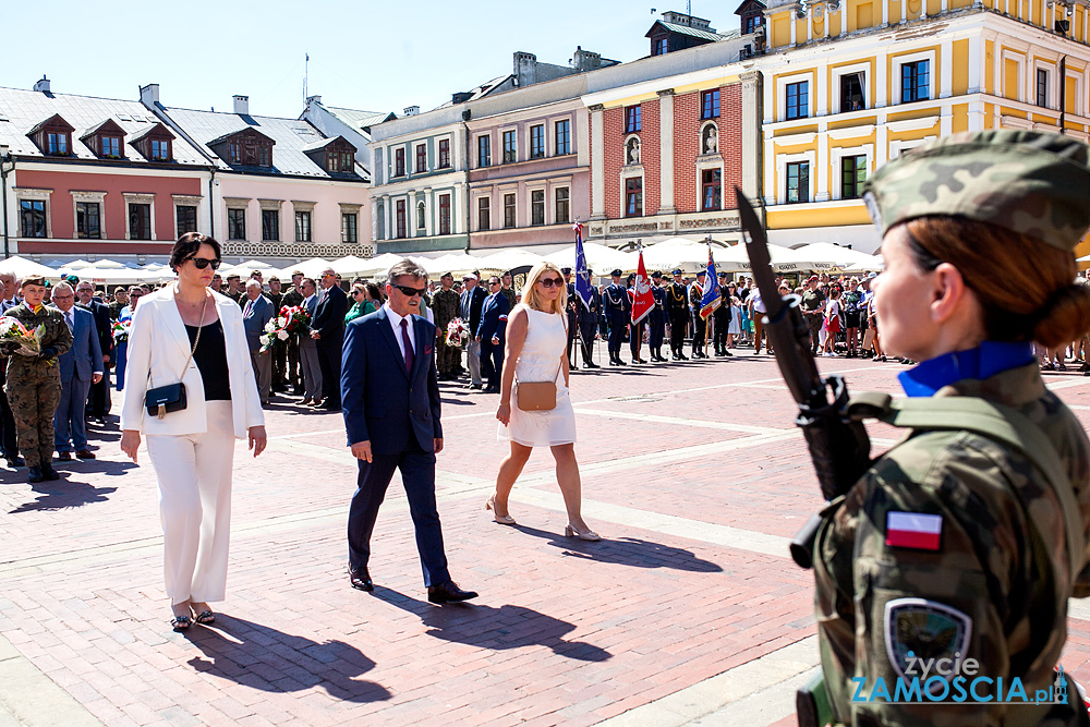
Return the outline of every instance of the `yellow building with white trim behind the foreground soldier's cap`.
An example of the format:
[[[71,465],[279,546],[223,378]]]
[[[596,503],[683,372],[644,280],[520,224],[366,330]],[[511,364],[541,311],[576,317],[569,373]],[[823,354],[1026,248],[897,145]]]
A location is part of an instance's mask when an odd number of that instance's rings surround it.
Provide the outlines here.
[[[767,52],[758,66],[772,242],[873,251],[879,235],[859,199],[862,180],[941,135],[1063,129],[1087,141],[1082,4],[771,0],[765,16]]]

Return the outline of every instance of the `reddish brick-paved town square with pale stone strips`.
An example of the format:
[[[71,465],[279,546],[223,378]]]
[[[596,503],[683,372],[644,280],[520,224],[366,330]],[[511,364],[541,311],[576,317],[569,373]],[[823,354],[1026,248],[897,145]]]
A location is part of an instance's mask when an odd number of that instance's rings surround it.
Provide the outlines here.
[[[893,390],[903,368],[820,365],[855,391]],[[1090,421],[1090,378],[1047,376]],[[816,653],[810,573],[786,540],[820,497],[773,360],[579,372],[571,389],[601,543],[562,536],[547,451],[516,486],[519,525],[492,522],[497,397],[443,385],[447,554],[481,592],[464,606],[426,603],[398,483],[375,593],[349,587],[355,465],[340,415],[294,399],[274,401],[266,455],[238,449],[228,599],[185,634],[168,625],[154,472],[144,451],[122,459],[116,417],[61,482],[0,470],[0,727],[794,725]],[[1077,603],[1063,663],[1090,681],[1088,662]]]

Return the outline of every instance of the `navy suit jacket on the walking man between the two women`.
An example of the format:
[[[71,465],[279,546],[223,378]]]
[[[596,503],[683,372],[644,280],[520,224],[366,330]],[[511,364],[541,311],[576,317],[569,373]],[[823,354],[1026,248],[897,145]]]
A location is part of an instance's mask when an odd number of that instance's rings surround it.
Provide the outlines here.
[[[415,353],[412,371],[393,338],[386,308],[355,318],[344,327],[341,360],[341,412],[349,446],[371,441],[374,455],[398,455],[415,436],[421,448],[435,451],[443,438],[439,384],[435,369],[435,326],[413,316]]]

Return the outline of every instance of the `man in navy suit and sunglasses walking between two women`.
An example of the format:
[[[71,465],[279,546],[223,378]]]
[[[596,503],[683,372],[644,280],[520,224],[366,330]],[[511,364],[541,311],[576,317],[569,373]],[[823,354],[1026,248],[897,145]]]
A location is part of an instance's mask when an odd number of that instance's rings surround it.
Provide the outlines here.
[[[475,598],[450,580],[435,505],[435,456],[443,450],[435,326],[417,315],[427,274],[412,260],[392,268],[386,303],[344,330],[341,402],[358,487],[348,514],[349,581],[373,591],[367,570],[371,534],[393,470],[401,471],[427,599],[434,604]]]

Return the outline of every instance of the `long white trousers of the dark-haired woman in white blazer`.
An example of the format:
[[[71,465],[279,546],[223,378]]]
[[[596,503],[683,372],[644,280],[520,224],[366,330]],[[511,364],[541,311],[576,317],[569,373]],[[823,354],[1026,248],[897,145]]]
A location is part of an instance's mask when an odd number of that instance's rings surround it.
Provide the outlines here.
[[[234,421],[230,401],[206,404],[204,434],[147,437],[159,481],[162,569],[171,604],[223,601],[227,593]]]

